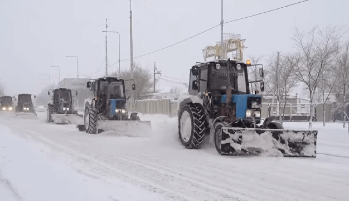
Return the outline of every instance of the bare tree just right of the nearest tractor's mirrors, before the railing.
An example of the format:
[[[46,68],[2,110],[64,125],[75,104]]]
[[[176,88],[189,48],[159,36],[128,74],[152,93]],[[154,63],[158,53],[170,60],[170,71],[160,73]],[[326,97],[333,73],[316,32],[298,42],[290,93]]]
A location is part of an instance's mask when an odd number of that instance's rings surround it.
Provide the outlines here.
[[[297,83],[297,80],[294,78],[295,67],[292,64],[292,58],[290,57],[291,56],[289,55],[281,58],[275,58],[275,56],[272,56],[269,60],[269,66],[266,73],[266,85],[269,90],[273,94],[275,94],[276,99],[279,103],[280,124],[283,124],[281,113],[285,113],[287,94],[289,93],[290,89]],[[283,112],[281,112],[282,100],[284,100]]]

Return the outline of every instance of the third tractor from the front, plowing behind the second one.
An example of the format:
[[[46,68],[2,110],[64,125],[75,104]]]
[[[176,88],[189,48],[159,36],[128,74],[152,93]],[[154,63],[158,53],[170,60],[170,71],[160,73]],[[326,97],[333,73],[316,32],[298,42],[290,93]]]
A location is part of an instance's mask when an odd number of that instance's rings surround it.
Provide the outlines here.
[[[77,120],[83,118],[83,115],[74,110],[72,90],[58,88],[49,90],[47,94],[52,95],[52,100],[47,104],[47,122],[75,124]],[[75,96],[77,96],[77,91],[75,91]]]

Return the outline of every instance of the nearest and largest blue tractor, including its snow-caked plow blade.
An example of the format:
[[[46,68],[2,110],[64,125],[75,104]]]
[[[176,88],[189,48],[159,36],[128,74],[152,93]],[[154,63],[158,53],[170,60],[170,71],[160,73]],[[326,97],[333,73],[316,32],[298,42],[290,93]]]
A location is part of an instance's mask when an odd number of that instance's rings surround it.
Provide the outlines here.
[[[242,63],[219,59],[199,63],[190,70],[189,95],[179,98],[178,129],[181,143],[190,149],[202,146],[205,134],[213,135],[216,150],[222,155],[260,155],[315,157],[317,131],[284,130],[270,118],[261,122],[262,96],[250,94],[247,60]],[[257,66],[257,65],[254,65]]]

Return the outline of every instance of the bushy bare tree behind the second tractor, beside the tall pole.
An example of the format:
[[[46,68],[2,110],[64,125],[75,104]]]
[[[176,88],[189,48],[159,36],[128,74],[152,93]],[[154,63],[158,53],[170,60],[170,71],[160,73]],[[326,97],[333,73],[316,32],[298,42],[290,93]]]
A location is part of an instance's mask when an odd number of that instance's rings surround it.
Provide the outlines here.
[[[141,98],[143,95],[150,93],[153,87],[152,83],[152,75],[151,72],[149,72],[146,69],[143,69],[139,64],[133,63],[134,65],[134,72],[133,72],[133,79],[136,85],[136,90],[134,92],[135,99]],[[131,79],[131,70],[124,70],[121,71],[120,75],[118,73],[113,73],[112,75],[117,75],[120,78],[124,80]],[[132,89],[133,81],[126,81],[125,82],[125,90]]]

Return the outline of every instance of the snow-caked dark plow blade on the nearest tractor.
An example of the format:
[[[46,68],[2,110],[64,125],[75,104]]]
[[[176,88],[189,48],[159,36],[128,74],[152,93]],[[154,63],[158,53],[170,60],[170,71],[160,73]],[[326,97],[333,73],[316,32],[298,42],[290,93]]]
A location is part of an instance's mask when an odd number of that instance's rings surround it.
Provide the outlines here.
[[[317,135],[317,130],[223,127],[221,155],[315,158]]]

